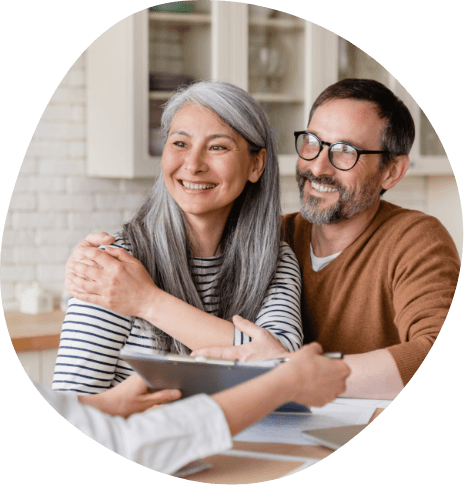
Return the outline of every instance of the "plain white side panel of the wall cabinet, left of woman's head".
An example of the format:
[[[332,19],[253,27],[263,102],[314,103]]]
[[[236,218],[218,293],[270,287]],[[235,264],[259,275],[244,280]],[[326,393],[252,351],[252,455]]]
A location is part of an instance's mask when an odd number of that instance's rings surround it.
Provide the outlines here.
[[[154,176],[144,149],[148,126],[148,12],[117,22],[86,51],[87,172],[96,177]]]

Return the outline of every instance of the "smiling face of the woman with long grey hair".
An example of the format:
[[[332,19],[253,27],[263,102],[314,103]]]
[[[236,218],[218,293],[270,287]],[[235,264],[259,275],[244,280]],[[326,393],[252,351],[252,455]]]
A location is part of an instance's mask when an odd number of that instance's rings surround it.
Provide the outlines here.
[[[246,140],[211,110],[180,109],[163,151],[163,177],[189,222],[224,222],[247,181],[257,182],[266,150],[250,156]]]

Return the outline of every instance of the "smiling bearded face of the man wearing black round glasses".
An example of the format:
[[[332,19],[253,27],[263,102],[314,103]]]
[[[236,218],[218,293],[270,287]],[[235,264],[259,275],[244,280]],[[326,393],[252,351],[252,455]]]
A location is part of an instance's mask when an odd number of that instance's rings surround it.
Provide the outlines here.
[[[384,120],[373,104],[355,99],[334,99],[319,106],[308,131],[329,143],[346,142],[363,150],[380,150]],[[301,214],[314,224],[351,219],[379,200],[382,190],[381,155],[361,155],[354,168],[337,170],[324,146],[315,160],[298,159],[297,181]]]

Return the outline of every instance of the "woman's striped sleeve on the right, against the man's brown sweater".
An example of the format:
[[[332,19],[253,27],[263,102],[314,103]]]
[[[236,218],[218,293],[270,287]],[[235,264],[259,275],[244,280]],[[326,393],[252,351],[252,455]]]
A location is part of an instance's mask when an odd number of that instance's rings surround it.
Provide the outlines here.
[[[255,323],[271,332],[290,352],[298,350],[303,344],[300,297],[298,261],[290,246],[281,242],[276,274]],[[251,342],[251,338],[235,329],[234,345],[248,342]]]

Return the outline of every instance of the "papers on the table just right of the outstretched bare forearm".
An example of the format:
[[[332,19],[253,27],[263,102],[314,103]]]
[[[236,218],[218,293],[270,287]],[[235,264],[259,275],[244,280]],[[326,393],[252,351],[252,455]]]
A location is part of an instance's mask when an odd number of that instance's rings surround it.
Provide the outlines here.
[[[355,424],[368,424],[375,408],[329,403],[322,408],[311,408],[311,413],[271,413],[259,423],[237,436],[237,441],[311,444],[302,435],[306,429],[334,428]],[[314,443],[317,444],[317,443]]]

